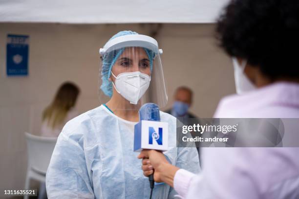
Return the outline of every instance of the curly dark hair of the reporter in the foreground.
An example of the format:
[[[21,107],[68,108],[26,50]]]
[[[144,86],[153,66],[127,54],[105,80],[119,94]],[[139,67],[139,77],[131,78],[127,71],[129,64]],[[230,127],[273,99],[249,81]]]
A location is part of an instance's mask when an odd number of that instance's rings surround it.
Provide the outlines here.
[[[267,77],[299,77],[299,0],[232,0],[216,26],[220,46]]]

